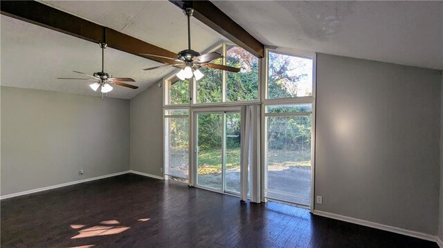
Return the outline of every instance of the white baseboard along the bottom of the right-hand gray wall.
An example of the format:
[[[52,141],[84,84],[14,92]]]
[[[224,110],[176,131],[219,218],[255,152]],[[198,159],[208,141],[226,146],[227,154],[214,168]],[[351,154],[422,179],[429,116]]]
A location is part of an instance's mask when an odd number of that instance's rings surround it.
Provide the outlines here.
[[[332,219],[336,219],[336,220],[343,220],[345,222],[350,222],[350,223],[362,225],[365,227],[372,227],[375,229],[381,229],[384,231],[391,231],[393,233],[399,233],[399,234],[403,234],[403,235],[414,237],[414,238],[421,238],[422,240],[437,242],[436,236],[432,236],[432,235],[429,235],[426,233],[420,233],[418,231],[410,231],[410,230],[402,229],[399,227],[392,227],[392,226],[383,225],[383,224],[379,224],[379,223],[375,223],[375,222],[370,222],[368,220],[360,220],[360,219],[347,217],[347,216],[341,216],[341,215],[338,215],[335,213],[328,213],[328,212],[324,212],[324,211],[314,210],[314,212],[312,212],[312,213],[314,213],[316,216],[323,216],[323,217],[332,218]]]

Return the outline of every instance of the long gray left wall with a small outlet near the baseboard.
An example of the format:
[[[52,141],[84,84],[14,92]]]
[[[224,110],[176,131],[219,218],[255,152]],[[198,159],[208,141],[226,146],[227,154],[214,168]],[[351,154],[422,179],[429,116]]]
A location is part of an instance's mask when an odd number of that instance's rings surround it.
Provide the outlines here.
[[[129,100],[1,87],[1,195],[127,170]]]

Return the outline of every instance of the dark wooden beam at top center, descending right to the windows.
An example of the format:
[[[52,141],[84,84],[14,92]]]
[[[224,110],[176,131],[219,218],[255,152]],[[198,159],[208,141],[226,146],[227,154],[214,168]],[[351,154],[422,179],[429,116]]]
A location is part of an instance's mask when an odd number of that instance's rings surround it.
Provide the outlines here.
[[[175,6],[183,9],[191,7],[194,9],[194,17],[206,24],[220,35],[241,46],[255,57],[264,57],[264,45],[249,34],[244,28],[239,26],[233,19],[230,19],[214,3],[210,1],[182,1],[170,0]]]

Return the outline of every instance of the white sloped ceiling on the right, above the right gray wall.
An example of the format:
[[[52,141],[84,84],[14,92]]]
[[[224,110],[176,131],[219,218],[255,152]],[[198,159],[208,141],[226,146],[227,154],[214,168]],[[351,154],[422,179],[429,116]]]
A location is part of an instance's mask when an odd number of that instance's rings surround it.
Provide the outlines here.
[[[442,1],[213,1],[263,44],[443,69]]]

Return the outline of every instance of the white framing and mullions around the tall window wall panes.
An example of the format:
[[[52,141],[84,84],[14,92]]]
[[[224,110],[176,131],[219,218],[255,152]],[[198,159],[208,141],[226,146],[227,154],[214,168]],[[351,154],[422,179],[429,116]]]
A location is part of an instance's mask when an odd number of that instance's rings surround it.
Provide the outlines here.
[[[216,44],[212,48],[209,48],[208,50],[205,50],[203,53],[210,53],[214,50],[219,49],[221,46],[223,46],[223,55],[224,58],[226,58],[226,46],[237,46],[236,44],[233,44],[230,41],[221,41],[219,44]],[[289,97],[289,98],[282,98],[282,99],[266,99],[267,95],[267,89],[268,89],[268,61],[269,61],[269,51],[273,53],[280,53],[283,55],[291,55],[296,57],[306,57],[312,59],[312,95],[307,97]],[[259,104],[262,105],[261,108],[261,114],[260,114],[260,122],[261,122],[261,135],[262,139],[260,140],[261,144],[261,167],[262,167],[262,202],[266,202],[266,198],[264,197],[264,186],[265,186],[265,178],[266,178],[266,128],[265,128],[265,112],[266,112],[266,106],[268,105],[281,105],[281,104],[311,104],[312,111],[311,111],[311,202],[309,205],[310,211],[314,211],[314,204],[315,204],[315,143],[316,143],[316,56],[317,54],[310,51],[304,51],[304,50],[296,50],[296,49],[289,49],[289,48],[275,48],[275,47],[269,47],[265,46],[265,56],[261,59],[258,59],[259,63],[259,75],[258,75],[258,95],[257,99],[254,100],[247,100],[247,101],[237,101],[237,102],[226,102],[226,72],[223,73],[224,78],[222,80],[222,102],[213,102],[213,103],[197,103],[197,84],[195,82],[195,79],[192,79],[189,88],[190,88],[190,101],[189,104],[167,104],[166,97],[168,93],[168,85],[165,84],[165,80],[170,79],[171,77],[174,77],[178,70],[172,71],[169,75],[163,78],[163,127],[165,126],[165,111],[168,109],[188,109],[189,113],[189,178],[188,178],[188,185],[195,186],[195,112],[204,111],[204,108],[211,108],[211,107],[224,107],[224,108],[230,108],[230,107],[237,107],[242,105],[251,105],[251,104]],[[224,64],[226,64],[226,59],[224,59]],[[163,128],[163,132],[165,131],[165,128]],[[165,139],[165,135],[163,135],[163,139]],[[164,140],[163,140],[164,141]],[[163,153],[165,153],[165,150],[163,149]],[[165,155],[164,155],[165,156]],[[164,157],[163,156],[163,157]],[[163,168],[165,166],[165,163],[163,163]],[[163,173],[164,175],[164,173]],[[192,175],[192,176],[191,176]]]

